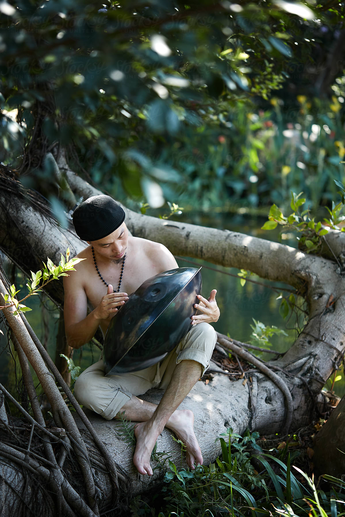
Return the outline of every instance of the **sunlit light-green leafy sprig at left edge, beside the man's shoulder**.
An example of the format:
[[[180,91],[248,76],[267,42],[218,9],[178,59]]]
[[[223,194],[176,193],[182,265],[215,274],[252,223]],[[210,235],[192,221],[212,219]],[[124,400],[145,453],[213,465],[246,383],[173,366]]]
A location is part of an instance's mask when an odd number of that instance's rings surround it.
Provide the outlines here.
[[[18,316],[21,312],[31,311],[29,307],[26,307],[21,303],[26,300],[29,296],[37,295],[42,291],[43,287],[51,282],[52,280],[57,280],[60,277],[67,277],[66,271],[75,271],[74,267],[80,261],[85,260],[84,258],[69,258],[70,251],[67,248],[66,251],[66,260],[64,255],[61,253],[61,261],[58,266],[55,266],[50,258],[47,258],[47,265],[44,264],[44,268],[34,273],[31,271],[31,279],[27,279],[27,290],[28,294],[22,298],[21,300],[16,299],[16,294],[19,293],[20,290],[16,291],[16,287],[14,285],[10,286],[10,293],[3,295],[5,305],[0,306],[0,310],[3,310],[5,307],[16,307],[16,310],[13,312],[14,316]]]

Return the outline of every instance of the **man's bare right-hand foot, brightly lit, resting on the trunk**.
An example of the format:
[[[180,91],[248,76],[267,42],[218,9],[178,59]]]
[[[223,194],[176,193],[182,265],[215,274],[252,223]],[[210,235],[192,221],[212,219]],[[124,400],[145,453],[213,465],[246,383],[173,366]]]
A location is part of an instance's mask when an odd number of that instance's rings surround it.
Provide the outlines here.
[[[203,459],[197,437],[194,433],[194,415],[190,409],[176,410],[166,423],[177,438],[186,446],[186,462],[194,470],[196,465],[202,465]]]

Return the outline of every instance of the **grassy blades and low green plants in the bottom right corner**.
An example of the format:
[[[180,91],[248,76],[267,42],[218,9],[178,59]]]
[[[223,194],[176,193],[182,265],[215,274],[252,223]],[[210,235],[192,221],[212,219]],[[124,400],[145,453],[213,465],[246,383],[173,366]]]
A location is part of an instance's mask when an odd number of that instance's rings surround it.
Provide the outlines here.
[[[150,499],[150,506],[139,498],[134,499],[132,515],[340,517],[344,514],[344,481],[323,476],[325,482],[320,488],[314,484],[313,477],[292,465],[293,455],[287,450],[280,453],[280,458],[264,453],[256,444],[258,433],[246,432],[242,438],[229,429],[224,435],[227,440],[220,437],[222,457],[208,467],[177,470],[169,462],[164,476],[166,486],[161,490],[166,494],[164,503],[161,493]],[[257,449],[258,453],[250,455],[250,449]],[[251,465],[253,461],[262,465],[260,474]]]

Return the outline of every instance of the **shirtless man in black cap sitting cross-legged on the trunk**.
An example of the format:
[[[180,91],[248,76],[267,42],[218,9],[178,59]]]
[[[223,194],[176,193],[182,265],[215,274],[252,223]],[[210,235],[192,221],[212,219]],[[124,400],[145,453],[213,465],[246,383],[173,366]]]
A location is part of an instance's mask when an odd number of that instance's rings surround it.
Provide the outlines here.
[[[136,291],[147,278],[178,267],[166,247],[129,236],[124,220],[124,210],[106,195],[90,197],[73,212],[76,233],[89,245],[77,255],[86,260],[64,278],[66,337],[74,348],[90,341],[98,326],[106,333],[111,318],[128,300],[127,293]],[[191,469],[202,464],[193,413],[176,409],[208,368],[217,340],[209,325],[219,317],[216,292],[208,300],[198,295],[194,307],[201,314],[191,317],[186,336],[160,363],[139,372],[106,376],[100,360],[77,379],[74,393],[81,404],[107,419],[119,418],[121,409],[127,419],[140,422],[134,429],[133,463],[141,474],[153,474],[149,460],[164,427],[185,444]],[[89,314],[87,300],[94,308]],[[166,389],[158,406],[137,398],[152,387]]]

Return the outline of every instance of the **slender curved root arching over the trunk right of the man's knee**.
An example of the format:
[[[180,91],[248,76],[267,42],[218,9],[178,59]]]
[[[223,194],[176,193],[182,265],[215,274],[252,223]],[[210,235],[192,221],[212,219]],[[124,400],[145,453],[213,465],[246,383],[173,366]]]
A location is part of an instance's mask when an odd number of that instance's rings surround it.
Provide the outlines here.
[[[260,359],[254,357],[252,354],[244,350],[241,346],[235,344],[234,340],[229,339],[227,336],[224,336],[224,334],[220,334],[219,332],[217,332],[217,337],[218,342],[222,346],[228,348],[229,350],[237,354],[239,357],[242,357],[246,361],[256,366],[258,370],[260,370],[260,372],[262,372],[264,375],[270,378],[271,381],[280,389],[285,399],[285,417],[280,432],[282,434],[287,434],[289,432],[293,415],[293,402],[287,384],[283,381],[281,377],[279,377],[276,373],[272,372],[272,370],[270,370],[269,367],[266,366],[266,364],[264,364]]]

